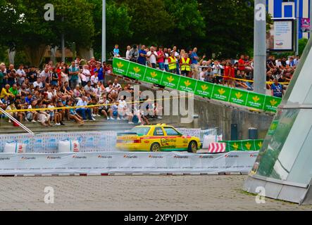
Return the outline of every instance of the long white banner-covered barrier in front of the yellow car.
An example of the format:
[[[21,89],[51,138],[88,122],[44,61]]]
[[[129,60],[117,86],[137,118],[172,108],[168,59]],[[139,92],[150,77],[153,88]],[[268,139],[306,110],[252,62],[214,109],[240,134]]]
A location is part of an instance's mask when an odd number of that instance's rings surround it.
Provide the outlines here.
[[[1,153],[0,175],[248,173],[258,151],[194,153]]]

